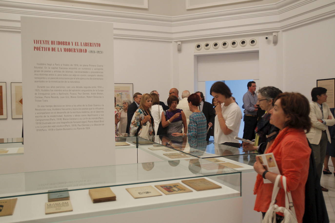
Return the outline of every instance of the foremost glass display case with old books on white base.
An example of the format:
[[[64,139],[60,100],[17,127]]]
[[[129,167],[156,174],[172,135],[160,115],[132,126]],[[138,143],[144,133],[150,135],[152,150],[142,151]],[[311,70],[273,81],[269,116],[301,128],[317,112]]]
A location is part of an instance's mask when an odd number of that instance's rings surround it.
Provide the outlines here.
[[[203,188],[194,182],[202,182]],[[116,201],[94,204],[88,190],[104,187],[111,188]],[[0,217],[1,222],[55,222],[240,198],[241,172],[190,158],[4,174],[0,175],[0,188],[0,200],[17,198],[13,215]],[[185,188],[191,193],[181,193]],[[49,190],[54,189],[69,192],[73,211],[45,214]],[[157,195],[150,196],[153,192]],[[135,199],[137,193],[143,197]]]

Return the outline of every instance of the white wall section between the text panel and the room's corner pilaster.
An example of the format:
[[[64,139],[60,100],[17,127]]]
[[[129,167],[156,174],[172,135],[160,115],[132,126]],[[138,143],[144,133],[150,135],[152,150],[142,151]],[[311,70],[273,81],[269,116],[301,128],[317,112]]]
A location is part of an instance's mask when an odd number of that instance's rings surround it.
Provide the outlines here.
[[[134,93],[156,90],[165,102],[173,83],[171,72],[171,43],[114,40],[115,83],[133,83]]]

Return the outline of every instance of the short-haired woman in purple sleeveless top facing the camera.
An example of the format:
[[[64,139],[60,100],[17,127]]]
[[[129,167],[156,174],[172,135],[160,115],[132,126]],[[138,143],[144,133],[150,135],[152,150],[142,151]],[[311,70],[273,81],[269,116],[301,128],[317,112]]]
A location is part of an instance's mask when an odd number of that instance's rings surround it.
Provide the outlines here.
[[[172,133],[182,133],[184,126],[184,133],[187,133],[187,122],[186,116],[181,109],[177,109],[179,99],[176,96],[170,96],[167,99],[167,105],[169,109],[162,112],[162,127],[166,129],[166,134],[171,135]]]

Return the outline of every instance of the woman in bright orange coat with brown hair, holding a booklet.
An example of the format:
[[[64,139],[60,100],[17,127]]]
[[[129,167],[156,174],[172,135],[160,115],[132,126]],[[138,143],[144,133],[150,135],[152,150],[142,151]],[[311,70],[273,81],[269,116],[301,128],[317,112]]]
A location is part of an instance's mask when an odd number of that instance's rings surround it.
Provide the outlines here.
[[[266,148],[265,153],[273,152],[280,174],[286,177],[286,186],[292,195],[297,221],[302,222],[305,211],[305,184],[312,151],[304,131],[309,131],[311,128],[310,107],[307,98],[299,93],[285,92],[275,100],[274,108],[270,111],[270,123],[280,131],[272,145]],[[257,194],[254,210],[261,211],[264,216],[270,206],[277,174],[266,171],[258,157],[254,169],[258,173],[254,188],[254,194]],[[272,183],[264,184],[263,178]],[[281,180],[278,186],[281,189],[276,204],[285,207]],[[281,222],[282,216],[283,213],[277,213],[277,223]]]

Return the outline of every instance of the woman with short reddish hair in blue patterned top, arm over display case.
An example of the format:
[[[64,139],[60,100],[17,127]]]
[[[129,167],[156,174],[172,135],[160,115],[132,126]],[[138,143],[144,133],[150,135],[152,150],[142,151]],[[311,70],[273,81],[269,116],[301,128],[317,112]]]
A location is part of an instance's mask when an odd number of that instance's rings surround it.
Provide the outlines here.
[[[200,97],[197,94],[191,94],[187,101],[189,108],[193,112],[190,115],[190,122],[188,124],[188,133],[173,133],[174,136],[189,136],[197,141],[206,141],[207,135],[207,121],[204,113],[199,110]]]

